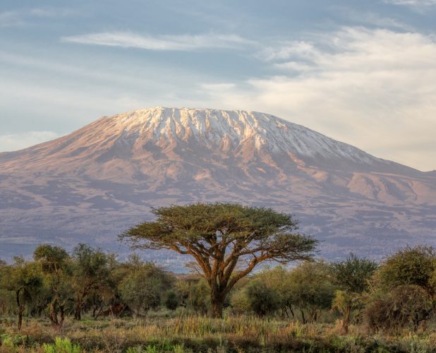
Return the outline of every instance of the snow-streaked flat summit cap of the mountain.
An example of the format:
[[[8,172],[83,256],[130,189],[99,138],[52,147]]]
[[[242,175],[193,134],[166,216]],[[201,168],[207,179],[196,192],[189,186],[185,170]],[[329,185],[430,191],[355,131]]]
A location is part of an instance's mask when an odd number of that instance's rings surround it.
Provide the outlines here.
[[[304,126],[271,114],[243,110],[154,107],[117,114],[107,127],[152,140],[166,138],[214,148],[254,148],[298,157],[341,159],[373,164],[380,160],[351,145],[327,138]],[[107,128],[106,127],[106,128]]]

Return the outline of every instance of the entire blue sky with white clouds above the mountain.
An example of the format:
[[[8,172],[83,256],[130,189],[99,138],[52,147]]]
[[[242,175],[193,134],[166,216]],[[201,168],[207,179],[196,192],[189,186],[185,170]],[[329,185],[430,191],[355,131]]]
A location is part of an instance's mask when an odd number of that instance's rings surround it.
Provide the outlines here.
[[[1,0],[0,151],[207,107],[436,169],[435,18],[436,0]]]

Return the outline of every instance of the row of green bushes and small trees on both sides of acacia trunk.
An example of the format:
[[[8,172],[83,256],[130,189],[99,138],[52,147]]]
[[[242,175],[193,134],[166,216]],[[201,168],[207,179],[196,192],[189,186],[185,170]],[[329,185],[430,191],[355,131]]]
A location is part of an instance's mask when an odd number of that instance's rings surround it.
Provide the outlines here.
[[[435,313],[436,254],[407,247],[375,263],[351,254],[344,261],[302,261],[290,270],[264,268],[231,289],[224,314],[281,316],[295,321],[340,319],[369,330],[412,330]],[[66,317],[146,316],[166,308],[211,311],[210,285],[198,274],[175,275],[133,253],[127,261],[86,244],[71,253],[42,245],[32,261],[0,261],[0,315],[46,317],[61,330]]]

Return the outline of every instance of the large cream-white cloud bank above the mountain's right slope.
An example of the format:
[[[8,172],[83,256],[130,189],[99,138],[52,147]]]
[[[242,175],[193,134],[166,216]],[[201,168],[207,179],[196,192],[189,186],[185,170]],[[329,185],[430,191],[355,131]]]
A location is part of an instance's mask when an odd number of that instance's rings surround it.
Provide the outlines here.
[[[432,37],[343,28],[318,42],[281,45],[261,54],[279,75],[253,78],[248,87],[205,86],[210,100],[276,114],[378,157],[436,168]]]

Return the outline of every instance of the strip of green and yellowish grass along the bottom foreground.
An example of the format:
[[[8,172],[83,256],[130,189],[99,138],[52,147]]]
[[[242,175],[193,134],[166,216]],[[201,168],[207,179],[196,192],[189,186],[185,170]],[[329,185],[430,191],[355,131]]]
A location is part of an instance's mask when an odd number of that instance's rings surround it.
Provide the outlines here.
[[[0,352],[436,352],[436,331],[369,335],[351,326],[253,316],[68,319],[61,333],[30,319],[20,333],[2,318]]]

